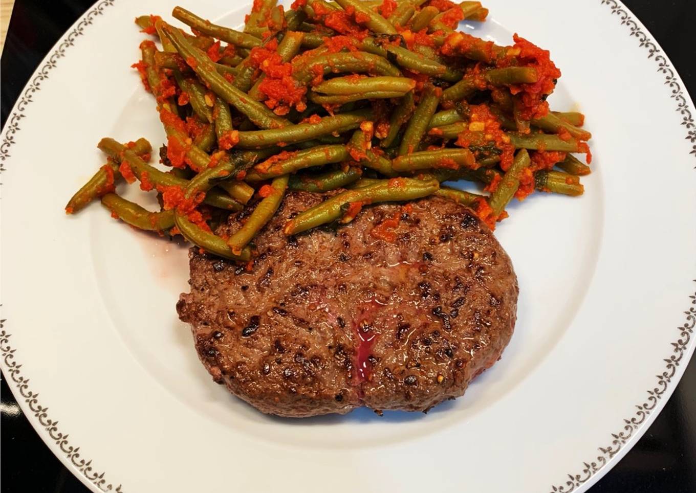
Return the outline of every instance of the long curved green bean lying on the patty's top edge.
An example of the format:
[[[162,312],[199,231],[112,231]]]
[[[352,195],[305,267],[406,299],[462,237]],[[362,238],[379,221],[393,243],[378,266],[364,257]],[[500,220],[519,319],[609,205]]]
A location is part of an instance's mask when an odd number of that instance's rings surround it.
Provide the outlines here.
[[[415,200],[431,195],[438,188],[440,188],[440,184],[437,180],[422,181],[409,178],[381,180],[379,184],[345,191],[307,209],[285,223],[283,231],[285,234],[297,234],[319,225],[331,223],[342,216],[342,211],[347,204]],[[347,218],[347,220],[350,219]]]

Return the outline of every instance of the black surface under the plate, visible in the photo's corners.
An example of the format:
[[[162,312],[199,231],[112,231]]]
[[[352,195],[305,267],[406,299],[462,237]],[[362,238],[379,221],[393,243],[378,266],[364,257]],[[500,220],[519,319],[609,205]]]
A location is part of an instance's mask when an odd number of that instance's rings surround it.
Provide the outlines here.
[[[2,125],[40,60],[92,3],[92,0],[15,2],[0,60]],[[693,36],[696,1],[624,0],[624,3],[658,40],[677,67],[690,94],[696,96],[696,45]],[[572,15],[572,9],[582,6],[569,1],[568,8]],[[148,13],[145,6],[143,9],[143,13]],[[10,394],[4,378],[1,385],[2,491],[88,492],[36,435]],[[592,488],[592,493],[608,492],[696,492],[694,362],[688,366],[674,395],[640,442]]]

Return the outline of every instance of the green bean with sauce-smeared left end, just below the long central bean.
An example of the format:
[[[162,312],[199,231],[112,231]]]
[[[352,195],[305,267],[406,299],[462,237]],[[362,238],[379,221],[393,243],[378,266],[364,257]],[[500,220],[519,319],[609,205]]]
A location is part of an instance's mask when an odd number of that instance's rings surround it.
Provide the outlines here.
[[[340,163],[348,158],[348,150],[345,145],[324,145],[313,147],[290,154],[287,159],[276,161],[272,158],[264,163],[259,163],[254,170],[246,175],[247,181],[261,181],[275,178],[288,173],[294,173],[305,168],[323,166],[330,163]]]

